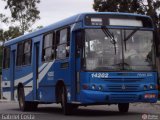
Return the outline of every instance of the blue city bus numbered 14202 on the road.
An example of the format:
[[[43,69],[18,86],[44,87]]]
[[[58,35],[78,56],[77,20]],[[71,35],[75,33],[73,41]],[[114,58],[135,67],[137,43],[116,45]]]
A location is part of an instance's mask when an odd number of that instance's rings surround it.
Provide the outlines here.
[[[5,99],[21,110],[61,103],[78,106],[155,103],[158,77],[155,27],[150,17],[82,13],[4,43]]]

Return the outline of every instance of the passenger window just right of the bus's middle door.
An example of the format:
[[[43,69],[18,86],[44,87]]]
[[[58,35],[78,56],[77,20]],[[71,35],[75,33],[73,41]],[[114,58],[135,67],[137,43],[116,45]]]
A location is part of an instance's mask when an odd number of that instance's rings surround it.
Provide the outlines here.
[[[54,33],[44,36],[42,61],[50,61],[54,59]]]

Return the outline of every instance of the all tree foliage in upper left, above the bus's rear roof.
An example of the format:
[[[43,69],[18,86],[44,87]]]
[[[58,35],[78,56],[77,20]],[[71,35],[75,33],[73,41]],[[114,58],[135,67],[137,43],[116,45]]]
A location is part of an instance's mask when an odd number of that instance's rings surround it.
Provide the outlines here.
[[[10,40],[23,35],[24,32],[32,31],[31,26],[39,17],[39,11],[36,7],[40,0],[3,0],[7,5],[5,9],[11,12],[9,19],[4,14],[0,13],[0,23],[12,24],[8,30],[0,29],[0,41]],[[38,27],[37,27],[38,29]]]

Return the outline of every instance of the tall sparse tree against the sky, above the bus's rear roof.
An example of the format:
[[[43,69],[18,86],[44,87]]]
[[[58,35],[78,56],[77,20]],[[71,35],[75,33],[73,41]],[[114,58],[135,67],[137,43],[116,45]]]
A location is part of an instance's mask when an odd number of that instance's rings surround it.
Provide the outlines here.
[[[22,34],[40,19],[36,5],[40,0],[3,0],[7,2],[5,9],[10,9],[12,22],[17,22]]]

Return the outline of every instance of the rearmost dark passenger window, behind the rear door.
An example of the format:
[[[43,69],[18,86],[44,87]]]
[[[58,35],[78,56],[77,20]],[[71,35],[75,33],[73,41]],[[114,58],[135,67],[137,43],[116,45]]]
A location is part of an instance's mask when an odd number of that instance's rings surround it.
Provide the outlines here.
[[[9,68],[10,66],[10,48],[5,47],[3,53],[3,69]]]

